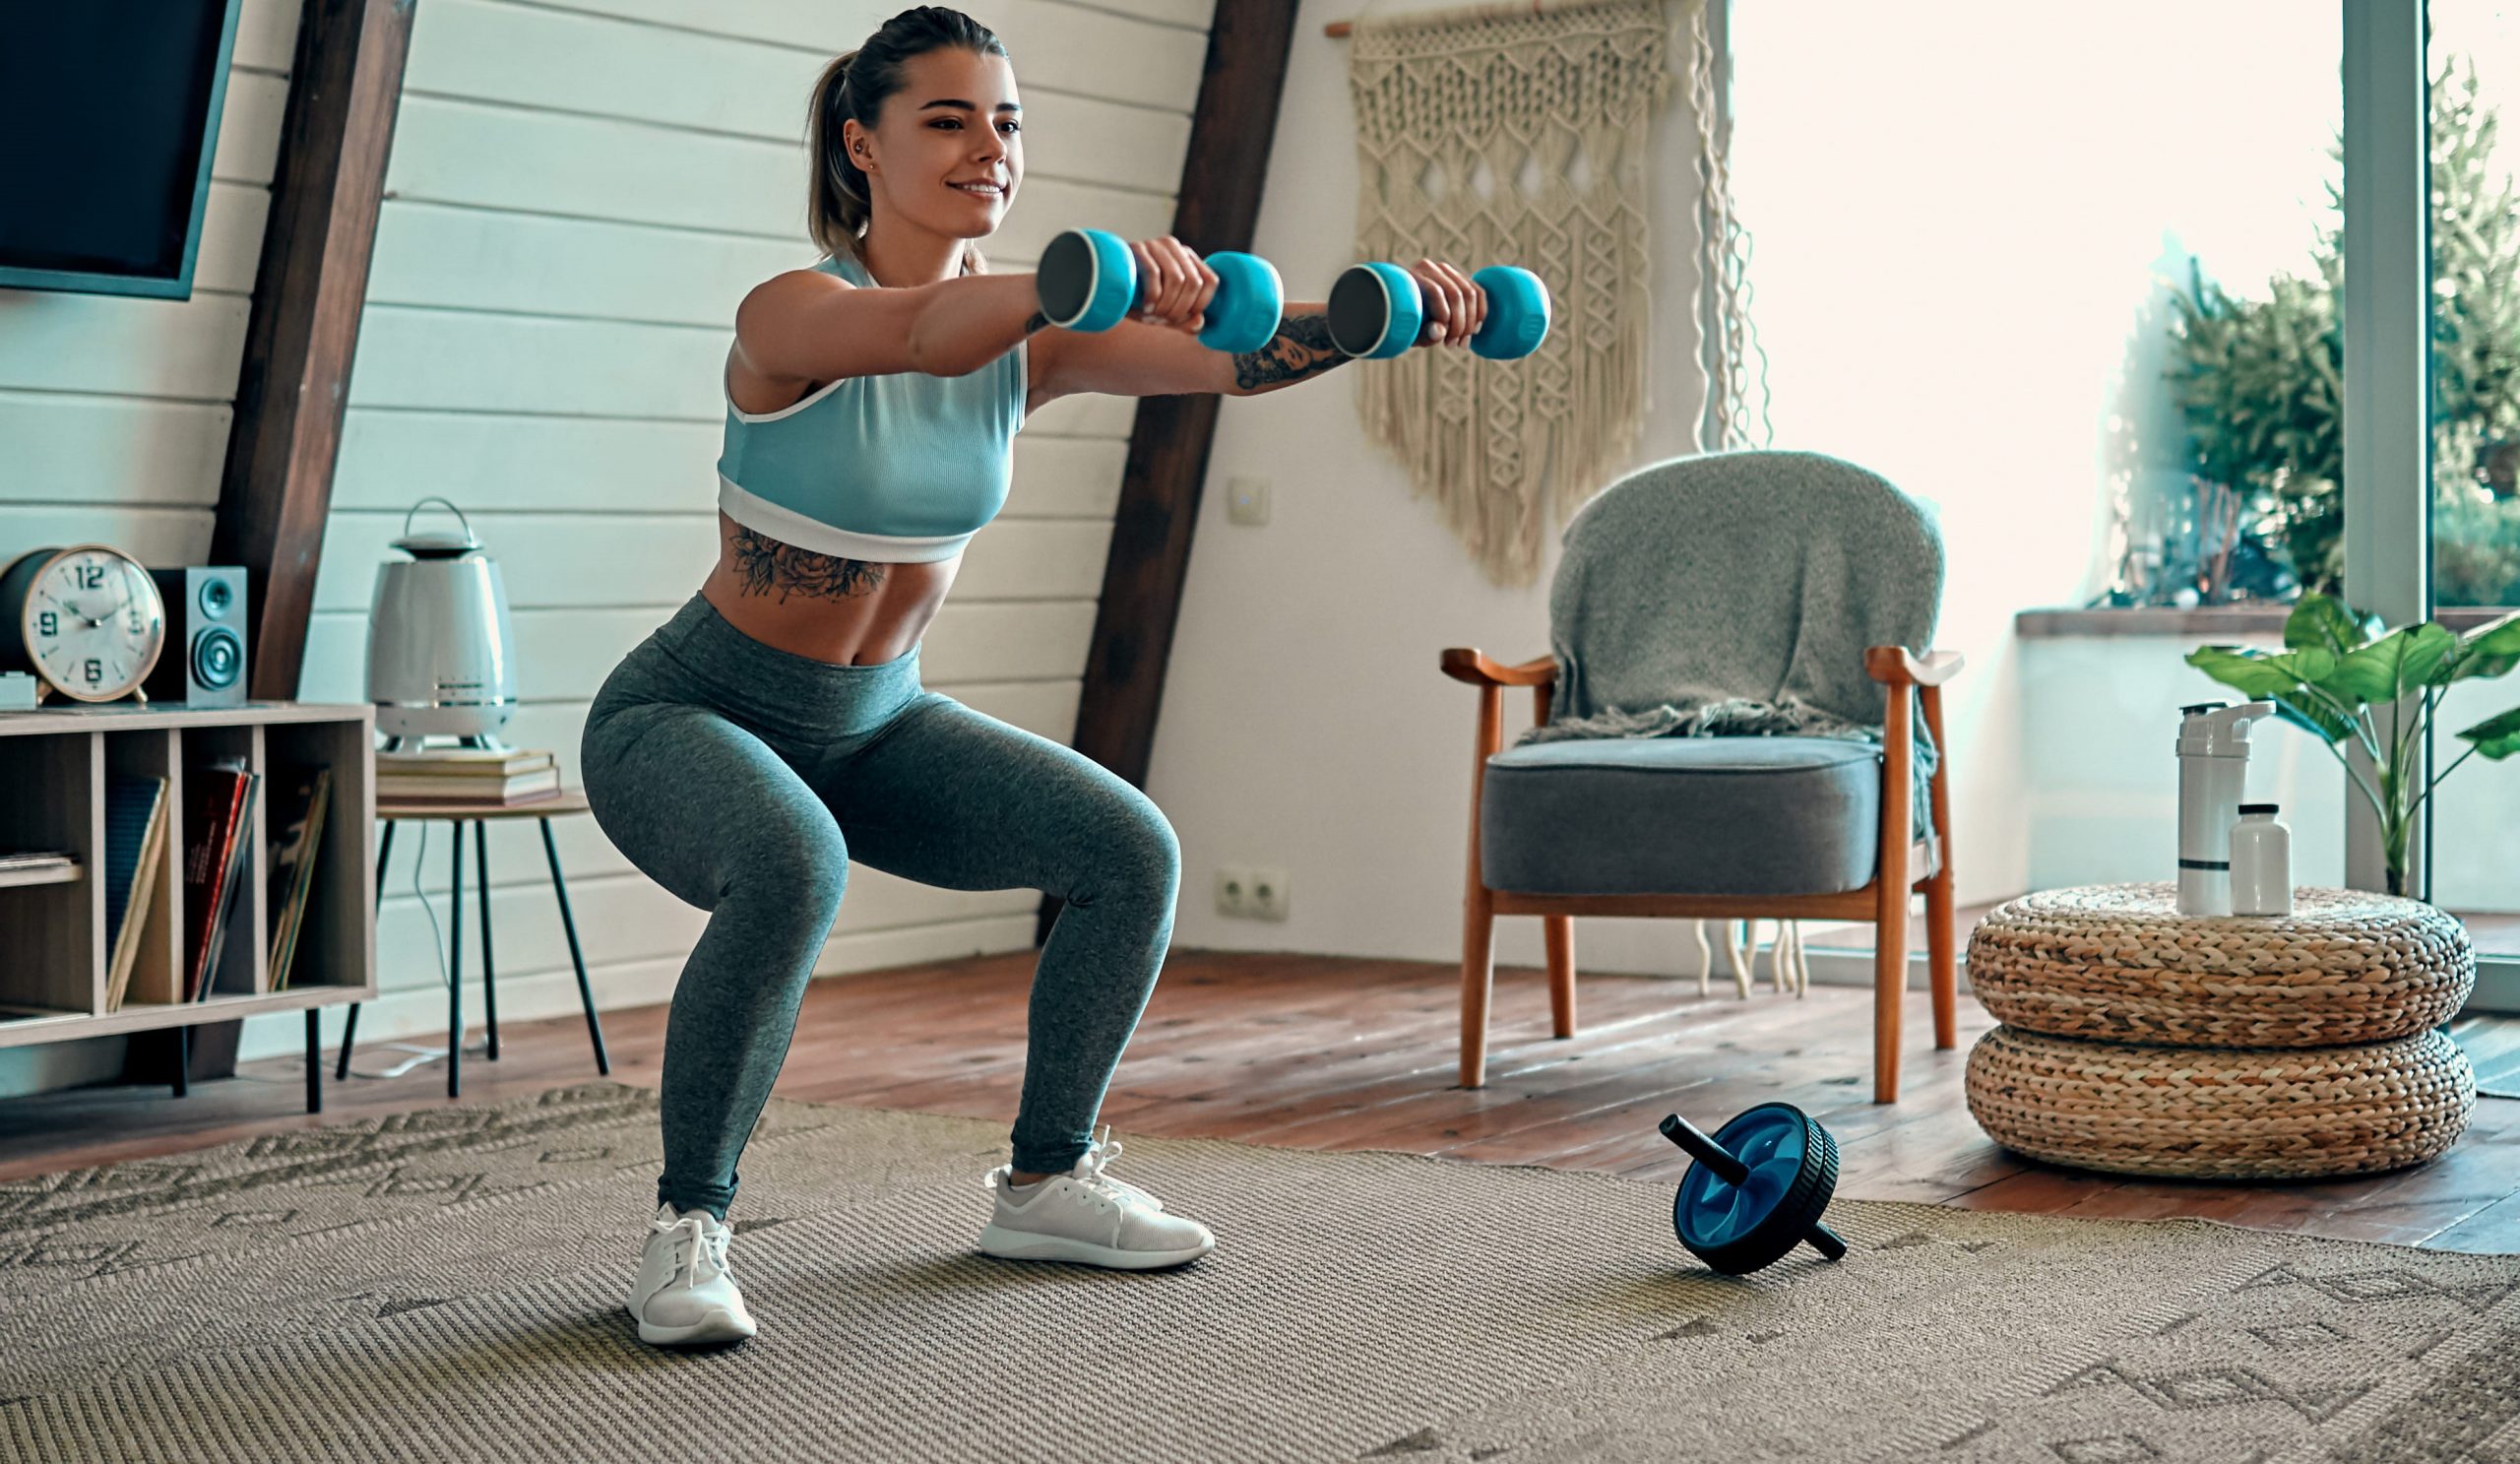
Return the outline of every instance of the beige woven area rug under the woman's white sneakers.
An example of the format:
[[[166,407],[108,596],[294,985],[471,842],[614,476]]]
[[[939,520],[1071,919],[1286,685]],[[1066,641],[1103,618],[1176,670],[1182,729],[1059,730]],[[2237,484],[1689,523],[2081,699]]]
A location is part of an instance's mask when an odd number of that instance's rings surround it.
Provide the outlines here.
[[[2520,1459],[2520,1257],[1131,1139],[1177,1272],[973,1250],[1005,1124],[774,1101],[738,1348],[620,1310],[655,1096],[587,1084],[0,1187],[0,1459]]]

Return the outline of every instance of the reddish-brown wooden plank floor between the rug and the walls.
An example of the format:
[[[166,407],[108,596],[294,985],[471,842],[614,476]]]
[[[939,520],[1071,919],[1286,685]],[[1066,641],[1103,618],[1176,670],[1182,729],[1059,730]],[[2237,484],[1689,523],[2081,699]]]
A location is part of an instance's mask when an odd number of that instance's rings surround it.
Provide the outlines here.
[[[1013,1121],[1023,1081],[1031,955],[816,980],[779,1094]],[[1923,993],[1908,1005],[1908,1086],[1870,1096],[1872,998],[1814,985],[1807,998],[1726,983],[1588,975],[1583,1033],[1547,1036],[1537,970],[1497,973],[1489,1081],[1457,1084],[1459,978],[1449,965],[1174,950],[1119,1066],[1104,1119],[1121,1136],[1222,1136],[1288,1149],[1401,1149],[1487,1164],[1603,1169],[1671,1182],[1683,1157],[1656,1124],[1681,1111],[1714,1126],[1784,1099],[1819,1116],[1842,1149],[1840,1194],[2046,1215],[2195,1215],[2268,1230],[2520,1252],[2520,1099],[2480,1099],[2470,1134],[2439,1162],[2354,1184],[2145,1184],[2031,1164],[1971,1121],[1961,1068],[1991,1026],[1961,998],[1961,1051],[1930,1048]],[[471,1003],[466,1003],[471,1005]],[[658,1081],[665,1008],[605,1015],[612,1076]],[[2470,1018],[2454,1033],[2480,1071],[2520,1068],[2520,1021]],[[464,1061],[466,1099],[534,1094],[595,1076],[577,1018],[507,1023],[501,1058]],[[474,1033],[479,1048],[481,1033]],[[0,1101],[0,1179],[171,1154],[350,1114],[446,1104],[428,1061],[363,1046],[348,1084],[307,1116],[300,1058],[247,1063],[237,1078],[166,1089],[78,1089]],[[2520,1076],[2505,1086],[2520,1084]]]

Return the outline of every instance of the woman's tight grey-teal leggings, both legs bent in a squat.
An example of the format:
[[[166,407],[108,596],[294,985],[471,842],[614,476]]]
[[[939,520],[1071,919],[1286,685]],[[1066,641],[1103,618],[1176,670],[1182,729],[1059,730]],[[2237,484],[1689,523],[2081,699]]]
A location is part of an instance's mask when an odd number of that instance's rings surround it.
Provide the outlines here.
[[[1063,1172],[1091,1144],[1172,942],[1179,844],[1101,763],[922,690],[917,658],[791,655],[696,595],[595,693],[580,748],[595,819],[708,910],[665,1026],[660,1202],[726,1220],[852,859],[1066,900],[1033,973],[1013,1162]]]

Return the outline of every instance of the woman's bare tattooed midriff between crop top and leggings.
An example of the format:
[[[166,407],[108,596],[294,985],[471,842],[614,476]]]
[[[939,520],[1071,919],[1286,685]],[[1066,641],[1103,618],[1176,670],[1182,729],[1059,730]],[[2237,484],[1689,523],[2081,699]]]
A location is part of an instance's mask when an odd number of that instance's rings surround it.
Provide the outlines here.
[[[874,564],[809,554],[718,514],[718,567],[701,595],[761,645],[832,665],[910,655],[945,605],[963,557]]]

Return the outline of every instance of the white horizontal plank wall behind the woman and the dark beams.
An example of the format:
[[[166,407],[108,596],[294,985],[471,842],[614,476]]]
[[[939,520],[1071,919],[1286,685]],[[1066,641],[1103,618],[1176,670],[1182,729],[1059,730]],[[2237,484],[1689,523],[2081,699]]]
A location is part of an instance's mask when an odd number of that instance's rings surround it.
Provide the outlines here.
[[[1005,38],[1026,101],[1028,176],[983,244],[993,267],[1028,270],[1074,224],[1172,224],[1210,8],[973,10]],[[509,736],[559,751],[575,781],[587,698],[713,562],[733,310],[753,282],[814,260],[811,81],[892,10],[421,0],[302,698],[360,698],[375,564],[403,509],[444,494],[507,582],[524,695]],[[295,0],[247,0],[192,302],[0,292],[0,542],[108,537],[164,564],[207,549],[295,13]],[[973,544],[927,635],[927,685],[1071,736],[1131,418],[1124,398],[1068,398],[1026,423],[1005,517]],[[638,874],[590,819],[557,829],[597,1000],[663,1000],[703,915]],[[378,925],[386,995],[360,1015],[363,1043],[444,1041],[438,952],[411,887],[418,832],[398,834]],[[575,1010],[529,824],[494,829],[491,874],[501,1013]],[[444,922],[444,826],[421,884]],[[816,970],[1021,950],[1036,902],[854,869]],[[479,958],[466,968],[476,975]],[[302,1023],[260,1018],[244,1053],[297,1043]]]

